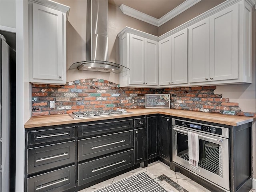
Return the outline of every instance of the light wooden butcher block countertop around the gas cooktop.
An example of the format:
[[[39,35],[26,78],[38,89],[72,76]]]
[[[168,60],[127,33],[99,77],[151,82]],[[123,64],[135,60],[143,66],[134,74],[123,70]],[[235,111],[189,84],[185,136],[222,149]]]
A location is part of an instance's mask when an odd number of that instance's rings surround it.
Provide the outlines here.
[[[64,125],[72,123],[81,122],[91,122],[98,120],[109,120],[114,118],[125,118],[134,117],[140,115],[150,115],[150,114],[164,114],[176,117],[190,118],[194,120],[202,120],[206,122],[219,123],[231,126],[238,126],[248,122],[253,122],[256,120],[254,117],[246,116],[234,116],[234,115],[224,115],[217,113],[208,112],[195,112],[188,110],[177,110],[177,109],[130,109],[127,110],[126,114],[118,115],[108,115],[108,116],[97,116],[90,118],[73,119],[69,114],[60,115],[49,115],[49,116],[33,116],[25,124],[25,128],[42,127],[42,126],[52,126],[52,125]]]

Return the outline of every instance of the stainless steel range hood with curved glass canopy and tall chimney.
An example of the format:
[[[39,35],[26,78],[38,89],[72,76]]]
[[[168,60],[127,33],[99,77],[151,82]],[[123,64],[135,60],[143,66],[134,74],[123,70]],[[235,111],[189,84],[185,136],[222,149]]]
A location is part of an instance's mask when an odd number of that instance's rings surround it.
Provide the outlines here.
[[[69,69],[119,73],[128,68],[108,60],[108,0],[87,0],[86,61]]]

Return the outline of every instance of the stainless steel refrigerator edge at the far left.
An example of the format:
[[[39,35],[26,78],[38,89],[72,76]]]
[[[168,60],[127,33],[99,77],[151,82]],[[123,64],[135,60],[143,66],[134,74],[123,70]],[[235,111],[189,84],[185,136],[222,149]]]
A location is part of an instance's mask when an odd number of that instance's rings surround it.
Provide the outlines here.
[[[10,62],[12,48],[0,35],[0,185],[1,191],[9,190],[10,182]]]

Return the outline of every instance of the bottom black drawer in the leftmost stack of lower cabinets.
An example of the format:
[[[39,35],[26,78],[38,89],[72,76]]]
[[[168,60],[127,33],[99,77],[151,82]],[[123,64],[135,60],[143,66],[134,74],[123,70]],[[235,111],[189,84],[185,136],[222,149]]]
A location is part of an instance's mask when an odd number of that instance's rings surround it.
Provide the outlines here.
[[[74,165],[27,179],[27,192],[61,192],[74,186]]]

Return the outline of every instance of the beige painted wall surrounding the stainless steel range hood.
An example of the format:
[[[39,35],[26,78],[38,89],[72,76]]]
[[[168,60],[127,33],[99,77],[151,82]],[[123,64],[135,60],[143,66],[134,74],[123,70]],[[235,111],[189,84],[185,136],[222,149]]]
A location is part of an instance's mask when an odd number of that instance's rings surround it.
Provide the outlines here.
[[[70,6],[67,22],[67,82],[83,78],[100,78],[119,84],[119,74],[68,70],[74,62],[86,60],[86,0],[55,0]],[[117,34],[126,26],[157,35],[158,28],[122,14],[119,7],[109,4],[108,18],[109,60],[119,63],[119,38]]]

